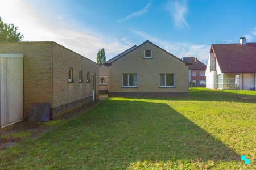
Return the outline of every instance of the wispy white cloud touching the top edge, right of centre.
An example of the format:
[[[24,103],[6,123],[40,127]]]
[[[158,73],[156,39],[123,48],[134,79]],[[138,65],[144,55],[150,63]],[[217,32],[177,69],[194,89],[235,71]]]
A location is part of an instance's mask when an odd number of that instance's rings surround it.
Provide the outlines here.
[[[185,15],[187,14],[187,0],[168,0],[166,9],[170,12],[176,27],[189,27],[185,19]]]

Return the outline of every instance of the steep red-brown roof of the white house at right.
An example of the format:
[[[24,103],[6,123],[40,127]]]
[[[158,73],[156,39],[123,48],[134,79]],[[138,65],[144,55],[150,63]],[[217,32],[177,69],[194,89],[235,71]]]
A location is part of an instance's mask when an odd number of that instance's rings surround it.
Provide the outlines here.
[[[222,73],[256,73],[256,43],[212,44]]]

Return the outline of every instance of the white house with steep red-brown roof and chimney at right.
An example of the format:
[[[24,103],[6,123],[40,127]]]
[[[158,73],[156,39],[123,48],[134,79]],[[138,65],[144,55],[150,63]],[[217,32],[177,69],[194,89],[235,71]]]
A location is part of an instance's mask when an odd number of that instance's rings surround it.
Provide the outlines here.
[[[212,44],[205,75],[207,88],[255,90],[256,43]]]

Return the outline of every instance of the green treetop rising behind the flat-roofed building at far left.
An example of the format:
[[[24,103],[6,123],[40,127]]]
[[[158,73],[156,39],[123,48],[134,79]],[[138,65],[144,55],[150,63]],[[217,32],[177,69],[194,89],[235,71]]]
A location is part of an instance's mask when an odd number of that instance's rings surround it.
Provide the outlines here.
[[[18,27],[14,24],[6,24],[0,17],[0,42],[19,42],[24,36],[18,32]]]

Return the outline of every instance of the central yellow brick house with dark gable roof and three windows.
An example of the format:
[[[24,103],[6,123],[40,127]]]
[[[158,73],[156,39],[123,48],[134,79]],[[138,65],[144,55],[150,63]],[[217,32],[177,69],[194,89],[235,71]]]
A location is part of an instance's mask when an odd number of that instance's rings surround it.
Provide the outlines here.
[[[118,54],[105,66],[109,96],[188,96],[188,67],[148,40]]]

